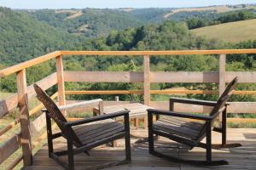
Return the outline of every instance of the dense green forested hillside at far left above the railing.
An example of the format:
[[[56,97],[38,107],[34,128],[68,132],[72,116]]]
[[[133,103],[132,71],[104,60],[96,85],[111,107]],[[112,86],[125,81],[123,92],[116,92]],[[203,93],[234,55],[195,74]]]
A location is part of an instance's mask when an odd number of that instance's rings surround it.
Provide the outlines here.
[[[22,11],[0,8],[0,63],[14,65],[84,41],[67,31],[35,20]]]

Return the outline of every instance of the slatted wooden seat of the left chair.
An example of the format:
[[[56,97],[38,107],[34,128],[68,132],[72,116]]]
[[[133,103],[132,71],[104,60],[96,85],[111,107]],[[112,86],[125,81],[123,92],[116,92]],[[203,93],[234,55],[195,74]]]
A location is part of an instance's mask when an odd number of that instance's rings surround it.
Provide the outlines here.
[[[113,119],[107,119],[73,127],[73,131],[84,145],[111,139],[113,135],[124,132],[125,126]]]

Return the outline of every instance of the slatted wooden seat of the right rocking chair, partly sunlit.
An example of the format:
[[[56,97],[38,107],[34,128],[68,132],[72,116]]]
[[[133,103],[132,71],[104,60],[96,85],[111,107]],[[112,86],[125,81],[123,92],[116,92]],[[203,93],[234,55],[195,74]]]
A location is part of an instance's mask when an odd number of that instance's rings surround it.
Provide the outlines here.
[[[161,116],[160,120],[153,123],[153,130],[196,140],[204,124],[174,116]]]

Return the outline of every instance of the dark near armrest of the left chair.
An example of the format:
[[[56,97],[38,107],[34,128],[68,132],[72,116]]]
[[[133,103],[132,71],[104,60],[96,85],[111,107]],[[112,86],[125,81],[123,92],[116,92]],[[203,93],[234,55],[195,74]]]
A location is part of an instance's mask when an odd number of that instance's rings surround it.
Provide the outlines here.
[[[109,113],[109,114],[105,114],[105,115],[93,116],[93,117],[90,117],[90,118],[84,118],[84,119],[79,120],[79,121],[64,122],[63,125],[66,126],[66,127],[73,127],[73,126],[81,125],[81,124],[84,124],[84,123],[102,121],[102,120],[105,120],[105,119],[111,119],[111,118],[118,117],[118,116],[128,116],[129,117],[129,112],[130,111],[128,111],[128,110],[126,110],[126,111],[117,111],[117,112],[113,112],[113,113]]]

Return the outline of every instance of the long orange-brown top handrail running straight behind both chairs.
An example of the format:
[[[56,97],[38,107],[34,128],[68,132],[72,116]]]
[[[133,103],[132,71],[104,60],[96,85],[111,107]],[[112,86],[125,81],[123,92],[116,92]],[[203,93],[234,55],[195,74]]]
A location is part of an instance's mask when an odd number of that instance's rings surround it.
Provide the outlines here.
[[[191,55],[191,54],[256,54],[256,49],[213,49],[175,51],[61,51],[62,55]]]

